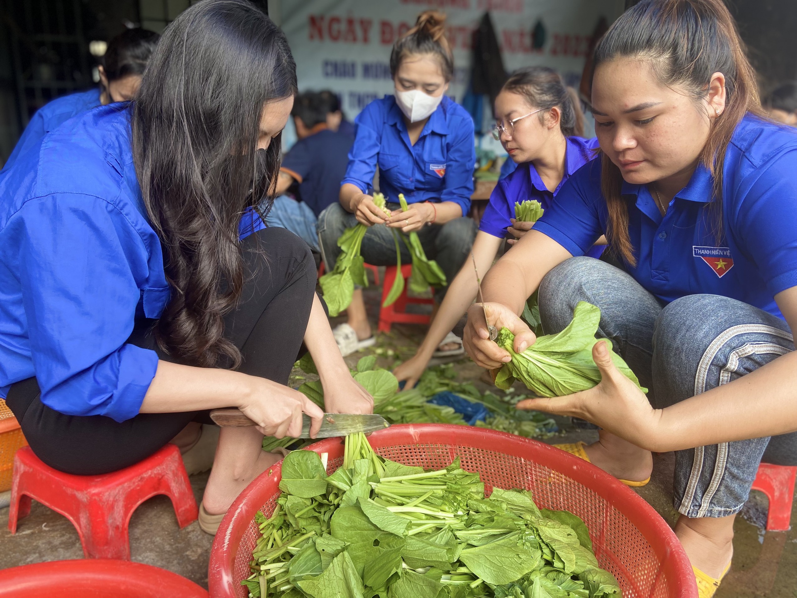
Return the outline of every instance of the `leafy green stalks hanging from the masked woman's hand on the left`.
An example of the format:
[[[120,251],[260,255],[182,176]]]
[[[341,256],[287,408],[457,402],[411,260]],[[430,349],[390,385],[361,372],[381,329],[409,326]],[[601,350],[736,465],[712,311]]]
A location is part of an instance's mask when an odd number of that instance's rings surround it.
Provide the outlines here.
[[[385,198],[381,193],[374,194],[374,203],[384,210],[385,214],[390,215],[385,207]],[[335,268],[332,269],[332,272],[320,277],[318,281],[321,291],[324,293],[324,301],[327,302],[329,315],[332,317],[337,316],[351,305],[354,285],[368,285],[368,277],[365,273],[365,266],[363,266],[365,261],[359,254],[367,230],[367,226],[359,223],[344,230],[344,234],[341,234],[338,239],[340,255],[335,262]]]

